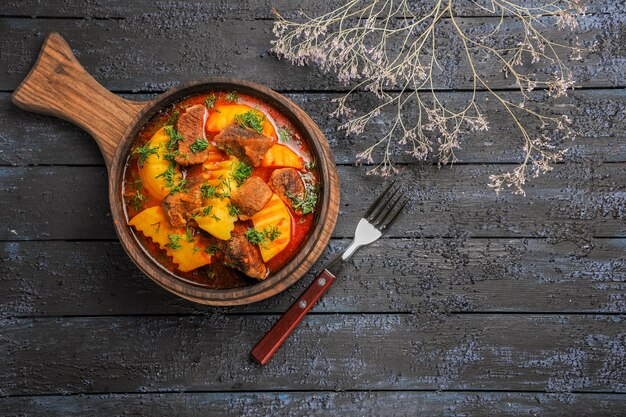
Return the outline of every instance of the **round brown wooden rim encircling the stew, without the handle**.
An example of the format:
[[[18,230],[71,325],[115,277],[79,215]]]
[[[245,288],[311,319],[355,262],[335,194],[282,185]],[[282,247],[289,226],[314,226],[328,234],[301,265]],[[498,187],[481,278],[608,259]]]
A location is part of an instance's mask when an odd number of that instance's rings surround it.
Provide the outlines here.
[[[122,176],[133,139],[158,112],[172,103],[200,92],[235,90],[256,96],[283,113],[307,141],[318,161],[321,179],[318,212],[312,233],[279,271],[256,284],[233,289],[210,289],[182,280],[149,256],[126,224],[122,204]],[[228,77],[210,77],[174,87],[148,102],[124,132],[111,163],[109,201],[115,231],[132,261],[154,282],[188,300],[214,306],[249,304],[276,295],[302,278],[321,256],[330,240],[339,213],[339,183],[334,158],[324,134],[313,120],[287,97],[260,84]]]

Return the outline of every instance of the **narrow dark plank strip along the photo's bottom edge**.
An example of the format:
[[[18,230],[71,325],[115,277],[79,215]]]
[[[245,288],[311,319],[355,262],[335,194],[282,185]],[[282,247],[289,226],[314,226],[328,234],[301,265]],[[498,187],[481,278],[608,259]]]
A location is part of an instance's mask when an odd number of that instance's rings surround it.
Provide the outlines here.
[[[614,394],[505,392],[233,392],[101,394],[0,399],[5,415],[21,417],[257,417],[267,416],[577,416],[621,417]]]

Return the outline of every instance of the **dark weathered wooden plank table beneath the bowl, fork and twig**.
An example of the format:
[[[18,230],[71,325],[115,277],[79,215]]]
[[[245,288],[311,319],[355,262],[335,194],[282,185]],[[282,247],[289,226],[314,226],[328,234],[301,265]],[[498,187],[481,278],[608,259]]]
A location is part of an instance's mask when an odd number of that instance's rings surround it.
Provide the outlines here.
[[[240,308],[174,297],[118,244],[89,136],[10,102],[51,31],[132,99],[209,75],[284,92],[320,125],[338,164],[341,216],[326,261],[384,183],[353,164],[380,132],[345,139],[328,116],[344,87],[268,48],[273,5],[293,15],[337,3],[3,2],[1,415],[626,415],[622,2],[588,2],[582,36],[598,48],[574,63],[580,88],[542,107],[570,114],[580,133],[567,160],[526,197],[494,194],[488,176],[520,159],[495,107],[492,129],[464,138],[462,163],[439,169],[399,155],[399,177],[411,184],[406,214],[355,256],[266,367],[249,351],[313,273]],[[440,88],[464,100],[468,82],[455,72]]]

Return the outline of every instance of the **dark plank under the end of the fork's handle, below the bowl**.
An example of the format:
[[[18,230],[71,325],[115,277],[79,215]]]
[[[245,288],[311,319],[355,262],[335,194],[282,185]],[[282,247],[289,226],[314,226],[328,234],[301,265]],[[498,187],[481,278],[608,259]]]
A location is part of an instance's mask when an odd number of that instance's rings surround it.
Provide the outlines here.
[[[225,390],[626,392],[624,317],[309,315],[262,367],[276,316],[7,319],[0,395]]]

